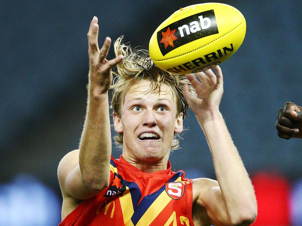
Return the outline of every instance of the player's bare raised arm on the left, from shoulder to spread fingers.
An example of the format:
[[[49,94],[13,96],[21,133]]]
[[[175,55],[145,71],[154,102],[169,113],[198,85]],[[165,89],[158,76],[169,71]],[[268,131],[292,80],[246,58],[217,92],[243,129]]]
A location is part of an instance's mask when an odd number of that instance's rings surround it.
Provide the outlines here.
[[[79,150],[69,152],[58,168],[60,187],[65,197],[86,199],[106,188],[110,177],[111,132],[108,89],[111,69],[123,56],[108,61],[111,39],[98,47],[98,18],[93,17],[88,31],[89,83],[87,112]],[[63,211],[62,211],[63,212]]]

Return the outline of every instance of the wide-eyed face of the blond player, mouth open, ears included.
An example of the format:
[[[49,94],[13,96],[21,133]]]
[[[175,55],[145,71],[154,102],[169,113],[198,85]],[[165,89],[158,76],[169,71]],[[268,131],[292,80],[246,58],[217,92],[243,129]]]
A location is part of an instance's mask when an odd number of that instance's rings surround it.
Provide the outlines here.
[[[138,161],[168,159],[174,133],[182,131],[182,113],[176,117],[176,98],[165,84],[161,92],[149,92],[151,83],[143,80],[127,90],[120,118],[114,114],[114,127],[123,133],[123,155]]]

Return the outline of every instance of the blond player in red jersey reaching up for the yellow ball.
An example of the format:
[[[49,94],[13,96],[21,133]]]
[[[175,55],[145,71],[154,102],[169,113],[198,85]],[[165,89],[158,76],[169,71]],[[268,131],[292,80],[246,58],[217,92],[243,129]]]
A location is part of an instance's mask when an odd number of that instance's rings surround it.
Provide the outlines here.
[[[219,112],[223,93],[220,67],[173,75],[156,67],[146,52],[115,42],[98,48],[98,19],[88,32],[88,104],[79,150],[63,157],[58,177],[63,194],[60,225],[249,225],[257,204],[249,176]],[[123,147],[111,159],[108,89],[111,70],[115,140]],[[196,91],[196,95],[192,95]],[[185,179],[171,171],[175,136],[192,108],[207,137],[217,180]],[[198,138],[197,138],[198,139]],[[197,156],[198,157],[198,156]]]

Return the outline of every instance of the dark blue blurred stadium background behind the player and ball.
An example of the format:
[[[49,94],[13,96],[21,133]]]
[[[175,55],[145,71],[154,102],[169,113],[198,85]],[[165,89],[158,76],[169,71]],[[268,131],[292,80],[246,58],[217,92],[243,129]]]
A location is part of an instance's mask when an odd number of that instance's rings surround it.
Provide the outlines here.
[[[78,148],[82,132],[92,17],[98,17],[100,45],[106,36],[116,40],[124,35],[133,47],[148,49],[162,21],[180,7],[203,2],[207,1],[0,3],[0,225],[60,221],[56,170],[62,157]],[[279,138],[275,121],[284,102],[302,105],[301,2],[217,2],[239,9],[247,22],[242,46],[221,64],[225,91],[220,111],[250,176],[265,171],[285,178],[291,194],[302,178],[302,140]],[[108,58],[113,57],[111,48]],[[183,169],[190,178],[215,178],[193,112],[184,125],[189,130],[182,136],[182,148],[170,157],[172,169]],[[120,154],[114,149],[115,158]],[[31,217],[37,209],[40,212]]]

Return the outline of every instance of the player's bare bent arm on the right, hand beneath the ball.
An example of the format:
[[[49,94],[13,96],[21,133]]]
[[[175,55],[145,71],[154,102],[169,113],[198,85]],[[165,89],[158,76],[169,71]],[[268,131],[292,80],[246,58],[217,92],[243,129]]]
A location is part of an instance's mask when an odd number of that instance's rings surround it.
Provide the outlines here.
[[[198,97],[191,95],[187,85],[184,88],[184,96],[207,137],[218,181],[193,180],[193,193],[198,187],[197,204],[206,209],[211,224],[249,225],[257,215],[255,194],[219,111],[223,77],[219,66],[215,71],[217,77],[212,70],[197,73],[202,85],[192,74],[187,75]]]

